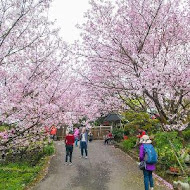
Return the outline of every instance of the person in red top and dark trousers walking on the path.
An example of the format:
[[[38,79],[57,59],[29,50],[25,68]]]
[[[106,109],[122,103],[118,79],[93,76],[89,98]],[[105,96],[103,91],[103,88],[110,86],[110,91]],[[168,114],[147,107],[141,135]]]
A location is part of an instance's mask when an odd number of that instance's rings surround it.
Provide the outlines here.
[[[65,157],[65,164],[67,164],[68,157],[69,157],[69,165],[72,165],[72,153],[73,153],[73,144],[75,142],[74,135],[72,134],[72,131],[69,131],[69,133],[65,137],[65,147],[66,147],[66,157]]]

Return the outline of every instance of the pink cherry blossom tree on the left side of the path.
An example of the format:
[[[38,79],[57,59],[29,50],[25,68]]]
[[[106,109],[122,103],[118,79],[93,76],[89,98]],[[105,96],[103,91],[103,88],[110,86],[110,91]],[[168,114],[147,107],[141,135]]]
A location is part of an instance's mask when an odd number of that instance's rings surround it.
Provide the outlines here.
[[[44,126],[67,123],[75,100],[67,45],[48,21],[49,0],[0,2],[0,150],[43,141]],[[73,109],[73,108],[72,108]]]

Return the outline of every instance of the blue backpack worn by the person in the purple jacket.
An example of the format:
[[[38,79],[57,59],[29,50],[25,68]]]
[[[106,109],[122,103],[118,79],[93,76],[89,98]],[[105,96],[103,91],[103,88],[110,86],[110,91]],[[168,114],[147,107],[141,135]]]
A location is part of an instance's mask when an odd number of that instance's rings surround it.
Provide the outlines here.
[[[156,164],[158,161],[158,155],[152,144],[143,144],[145,151],[145,162],[147,164]]]

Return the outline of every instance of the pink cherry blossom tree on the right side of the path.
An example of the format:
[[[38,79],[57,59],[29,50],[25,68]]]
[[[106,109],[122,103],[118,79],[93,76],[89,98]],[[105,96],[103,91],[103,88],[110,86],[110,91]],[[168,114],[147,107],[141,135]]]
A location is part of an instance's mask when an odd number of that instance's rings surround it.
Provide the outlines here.
[[[186,128],[190,111],[189,2],[90,3],[86,22],[78,26],[82,43],[76,46],[76,54],[88,68],[81,74],[86,82],[102,92],[100,98],[109,92],[125,105],[126,99],[135,98],[144,110],[155,107],[167,130]]]

